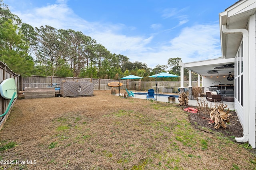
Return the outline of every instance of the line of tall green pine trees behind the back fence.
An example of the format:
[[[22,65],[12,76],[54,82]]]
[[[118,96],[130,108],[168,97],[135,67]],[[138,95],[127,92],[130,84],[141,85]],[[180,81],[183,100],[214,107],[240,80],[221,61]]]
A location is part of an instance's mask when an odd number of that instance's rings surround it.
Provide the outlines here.
[[[133,74],[148,81],[151,80],[148,76],[156,72],[180,75],[179,57],[170,58],[166,65],[148,68],[146,63],[130,62],[127,56],[110,53],[81,31],[56,29],[50,25],[34,28],[28,23],[22,23],[2,0],[0,25],[0,60],[22,76],[118,79],[118,75],[122,77]],[[185,79],[188,79],[186,71]],[[197,76],[193,79],[197,80]]]

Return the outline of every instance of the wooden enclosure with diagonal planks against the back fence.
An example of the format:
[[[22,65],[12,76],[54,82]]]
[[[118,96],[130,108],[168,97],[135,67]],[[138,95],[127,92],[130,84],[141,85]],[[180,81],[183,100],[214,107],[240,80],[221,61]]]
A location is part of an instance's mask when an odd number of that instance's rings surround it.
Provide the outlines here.
[[[62,81],[60,93],[63,97],[93,95],[93,88],[91,82]]]

